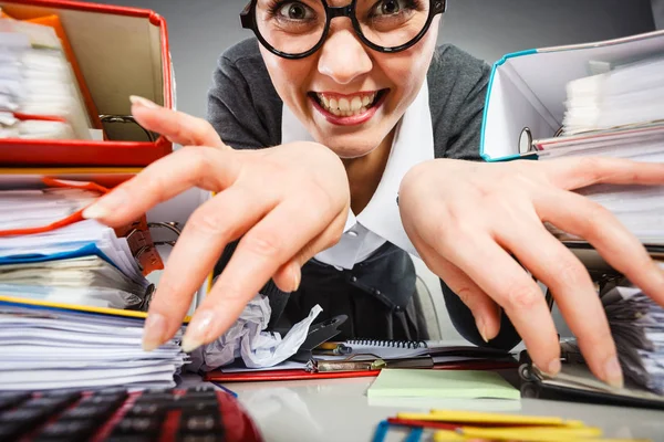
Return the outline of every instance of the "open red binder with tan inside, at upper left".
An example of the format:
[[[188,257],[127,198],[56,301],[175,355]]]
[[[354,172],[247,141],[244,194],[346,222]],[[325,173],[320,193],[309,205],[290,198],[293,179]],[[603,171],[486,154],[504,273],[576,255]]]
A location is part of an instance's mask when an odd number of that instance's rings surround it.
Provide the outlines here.
[[[89,110],[96,108],[106,117],[102,120],[107,135],[103,141],[2,139],[0,167],[142,167],[173,150],[165,137],[117,123],[131,115],[129,95],[173,108],[164,18],[144,9],[69,0],[0,0],[0,9],[17,20],[59,17],[66,33],[64,45],[75,56],[74,71],[79,69],[85,80],[82,93],[93,101]]]

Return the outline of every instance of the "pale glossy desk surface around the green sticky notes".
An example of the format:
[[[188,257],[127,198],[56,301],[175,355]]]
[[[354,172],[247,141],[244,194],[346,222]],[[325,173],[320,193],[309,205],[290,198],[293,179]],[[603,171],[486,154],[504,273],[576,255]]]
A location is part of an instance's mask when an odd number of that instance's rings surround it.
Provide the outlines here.
[[[373,378],[286,382],[227,383],[260,428],[266,442],[371,441],[377,423],[398,411],[432,408],[560,415],[598,425],[611,438],[649,438],[664,441],[664,412],[588,406],[533,399],[370,400],[366,389]],[[403,441],[406,433],[391,431],[388,441]]]

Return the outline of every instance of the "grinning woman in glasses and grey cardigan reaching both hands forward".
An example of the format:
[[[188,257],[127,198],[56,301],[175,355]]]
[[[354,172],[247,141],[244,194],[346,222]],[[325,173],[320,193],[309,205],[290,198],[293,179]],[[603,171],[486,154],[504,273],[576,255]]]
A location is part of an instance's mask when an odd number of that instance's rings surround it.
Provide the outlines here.
[[[242,23],[258,41],[220,57],[209,123],[133,97],[141,124],[189,147],[85,215],[116,225],[190,187],[217,192],[173,251],[145,347],[175,333],[225,249],[186,350],[221,335],[259,291],[270,296],[272,324],[321,303],[328,315],[351,316],[349,335],[416,337],[407,313],[412,251],[452,290],[446,303],[465,337],[509,348],[520,335],[533,361],[556,375],[558,336],[528,269],[551,288],[593,372],[621,385],[593,284],[542,221],[585,238],[664,302],[664,275],[639,241],[572,192],[599,182],[661,185],[664,166],[473,161],[488,67],[435,48],[445,2],[346,2],[253,0]]]

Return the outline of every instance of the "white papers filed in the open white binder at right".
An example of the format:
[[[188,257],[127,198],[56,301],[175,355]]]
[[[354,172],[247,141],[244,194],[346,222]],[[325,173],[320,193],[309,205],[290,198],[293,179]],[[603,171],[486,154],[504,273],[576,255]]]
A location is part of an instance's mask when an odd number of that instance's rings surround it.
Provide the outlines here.
[[[572,81],[564,135],[533,141],[538,157],[664,161],[663,72],[664,59],[658,57]],[[643,243],[664,243],[663,187],[594,186],[580,193],[605,207]]]

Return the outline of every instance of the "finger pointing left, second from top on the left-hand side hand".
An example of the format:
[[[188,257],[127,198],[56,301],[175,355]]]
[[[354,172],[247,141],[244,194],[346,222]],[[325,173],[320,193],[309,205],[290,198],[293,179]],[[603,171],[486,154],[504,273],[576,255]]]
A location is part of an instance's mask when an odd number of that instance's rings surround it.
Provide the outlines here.
[[[153,162],[100,198],[85,209],[83,217],[112,227],[125,225],[156,204],[193,187],[222,190],[236,180],[239,170],[240,165],[232,150],[180,149]]]

